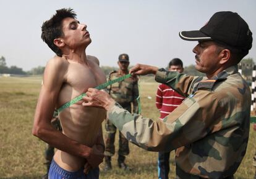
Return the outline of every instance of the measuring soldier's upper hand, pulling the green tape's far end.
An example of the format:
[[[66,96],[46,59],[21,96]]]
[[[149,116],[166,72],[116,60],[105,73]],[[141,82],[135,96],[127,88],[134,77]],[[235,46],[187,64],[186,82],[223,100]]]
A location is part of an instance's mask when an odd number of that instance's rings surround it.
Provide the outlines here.
[[[158,67],[156,67],[156,66],[136,64],[134,67],[132,67],[130,69],[129,73],[131,73],[133,76],[135,76],[135,75],[146,75],[146,74],[156,74],[157,70],[158,70]]]

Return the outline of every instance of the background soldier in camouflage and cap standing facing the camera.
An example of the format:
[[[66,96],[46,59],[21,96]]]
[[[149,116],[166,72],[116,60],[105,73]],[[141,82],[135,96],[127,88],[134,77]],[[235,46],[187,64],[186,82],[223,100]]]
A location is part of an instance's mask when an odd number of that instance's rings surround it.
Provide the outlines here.
[[[127,54],[119,55],[119,61],[117,62],[119,66],[118,71],[113,71],[109,74],[109,81],[120,78],[128,74],[128,66],[129,66],[129,56]],[[130,113],[138,113],[138,105],[136,98],[139,96],[138,84],[137,80],[132,78],[125,79],[119,83],[112,84],[108,88],[109,95],[111,95],[114,100],[118,101],[118,103]],[[133,104],[133,111],[131,111],[131,103]],[[116,127],[109,121],[106,120],[105,123],[106,129],[106,149],[105,149],[105,170],[111,170],[111,157],[115,153],[114,147],[114,138],[116,135]],[[121,169],[129,170],[129,167],[126,165],[124,160],[125,156],[129,154],[129,144],[127,139],[119,132],[119,150],[118,150],[118,166]]]

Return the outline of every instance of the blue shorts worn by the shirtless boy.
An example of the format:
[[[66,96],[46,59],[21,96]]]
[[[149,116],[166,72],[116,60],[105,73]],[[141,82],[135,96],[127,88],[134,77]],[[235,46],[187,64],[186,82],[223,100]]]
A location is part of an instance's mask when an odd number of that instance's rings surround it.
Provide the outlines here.
[[[83,173],[83,169],[77,172],[69,172],[59,167],[59,165],[52,160],[48,177],[49,179],[98,179],[100,177],[100,169],[98,167],[91,169],[87,175]]]

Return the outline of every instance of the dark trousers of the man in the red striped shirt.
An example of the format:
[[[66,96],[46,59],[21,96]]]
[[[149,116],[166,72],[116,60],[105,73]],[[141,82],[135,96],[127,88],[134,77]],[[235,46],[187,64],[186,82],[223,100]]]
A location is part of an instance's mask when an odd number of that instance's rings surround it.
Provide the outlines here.
[[[158,153],[158,178],[168,179],[170,170],[169,157],[170,153],[159,152]]]

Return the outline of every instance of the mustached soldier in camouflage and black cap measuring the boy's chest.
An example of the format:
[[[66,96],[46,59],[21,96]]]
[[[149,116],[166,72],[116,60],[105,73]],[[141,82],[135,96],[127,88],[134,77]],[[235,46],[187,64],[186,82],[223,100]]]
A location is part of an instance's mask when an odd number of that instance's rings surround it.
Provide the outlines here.
[[[250,88],[237,63],[249,53],[252,33],[238,14],[217,12],[200,31],[179,35],[198,41],[195,68],[207,77],[139,64],[130,70],[135,75],[155,74],[157,82],[187,97],[163,121],[130,114],[96,89],[88,90],[85,100],[90,103],[85,106],[104,107],[109,121],[143,149],[176,149],[177,178],[234,178],[250,127]]]

